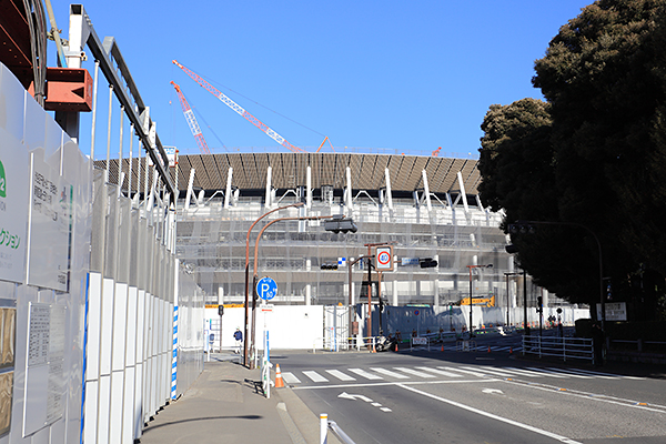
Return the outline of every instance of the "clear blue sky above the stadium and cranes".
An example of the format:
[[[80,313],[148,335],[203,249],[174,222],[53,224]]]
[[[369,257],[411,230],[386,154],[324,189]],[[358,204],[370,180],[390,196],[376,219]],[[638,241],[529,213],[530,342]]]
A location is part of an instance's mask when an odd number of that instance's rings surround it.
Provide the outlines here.
[[[181,153],[199,150],[172,80],[212,152],[286,149],[199,87],[173,59],[307,151],[327,135],[337,150],[430,155],[442,147],[441,155],[475,158],[488,107],[542,98],[531,83],[534,61],[591,2],[117,0],[83,7],[101,39],[115,38],[160,140]],[[52,4],[67,38],[69,2]],[[52,42],[50,49],[53,65]],[[92,73],[92,58],[84,68]],[[100,101],[105,97],[101,88]],[[105,155],[107,133],[100,112],[98,159]]]

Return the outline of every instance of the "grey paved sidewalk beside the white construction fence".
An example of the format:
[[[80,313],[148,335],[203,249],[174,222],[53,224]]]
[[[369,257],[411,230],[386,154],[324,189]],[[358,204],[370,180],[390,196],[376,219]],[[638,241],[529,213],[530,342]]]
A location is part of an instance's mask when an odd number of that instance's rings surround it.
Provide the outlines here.
[[[260,370],[238,360],[212,354],[199,379],[148,423],[139,442],[319,444],[319,415],[291,389],[271,389],[266,400]],[[327,440],[340,443],[331,432]]]

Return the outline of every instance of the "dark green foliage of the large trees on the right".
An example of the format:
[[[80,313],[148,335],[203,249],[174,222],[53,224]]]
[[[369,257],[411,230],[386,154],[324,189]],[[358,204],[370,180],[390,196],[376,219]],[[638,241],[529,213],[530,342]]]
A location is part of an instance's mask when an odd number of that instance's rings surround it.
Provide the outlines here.
[[[596,1],[535,62],[533,84],[547,103],[492,105],[483,122],[484,201],[509,222],[587,228],[513,238],[521,264],[572,302],[598,301],[589,231],[605,276],[627,281],[640,264],[666,274],[665,48],[666,0]],[[555,270],[569,282],[558,283]]]

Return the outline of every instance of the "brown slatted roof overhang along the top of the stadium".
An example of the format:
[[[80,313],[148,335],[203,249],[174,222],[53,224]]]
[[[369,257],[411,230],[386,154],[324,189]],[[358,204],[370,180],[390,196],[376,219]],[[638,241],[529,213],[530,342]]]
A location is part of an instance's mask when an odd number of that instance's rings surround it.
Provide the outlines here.
[[[342,189],[346,182],[346,167],[351,168],[354,190],[379,190],[385,186],[384,170],[391,175],[394,191],[414,191],[423,188],[422,171],[426,171],[430,191],[447,193],[460,191],[460,172],[466,194],[477,194],[481,174],[476,159],[452,159],[422,155],[363,154],[363,153],[219,153],[179,155],[180,190],[186,190],[190,170],[195,170],[194,188],[223,190],[229,168],[233,168],[232,184],[241,190],[261,190],[266,185],[266,171],[272,167],[272,185],[293,189],[305,185],[306,168],[311,167],[312,188],[332,185]],[[104,168],[105,161],[97,161]],[[111,178],[118,176],[118,159],[111,160]],[[174,169],[172,168],[172,174]],[[123,171],[128,171],[124,159]],[[137,183],[137,162],[132,182]],[[173,176],[173,175],[172,175]],[[112,179],[114,182],[114,180]],[[127,186],[127,183],[123,188]],[[135,189],[135,185],[132,186]]]

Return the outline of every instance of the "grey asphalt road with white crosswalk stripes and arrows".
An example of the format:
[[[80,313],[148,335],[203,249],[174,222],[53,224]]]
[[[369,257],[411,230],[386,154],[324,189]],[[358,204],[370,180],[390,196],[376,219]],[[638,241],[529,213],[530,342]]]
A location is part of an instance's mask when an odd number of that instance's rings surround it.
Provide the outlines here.
[[[356,443],[666,443],[664,369],[514,352],[273,352],[285,383]]]

